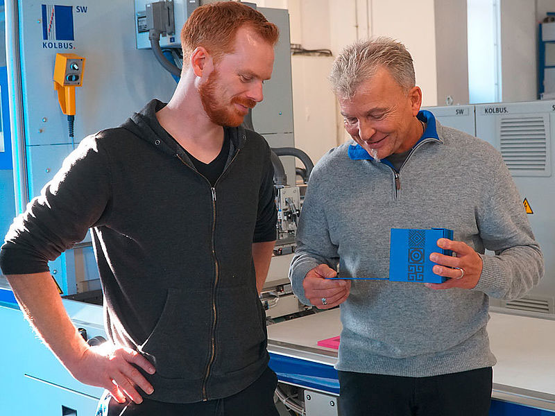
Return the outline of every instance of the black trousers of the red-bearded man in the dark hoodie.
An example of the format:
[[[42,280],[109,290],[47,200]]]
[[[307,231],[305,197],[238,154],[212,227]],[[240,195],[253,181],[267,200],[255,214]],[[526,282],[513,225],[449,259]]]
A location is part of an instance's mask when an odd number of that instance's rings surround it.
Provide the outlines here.
[[[278,377],[268,367],[248,388],[224,399],[173,404],[143,397],[142,404],[119,404],[107,394],[101,399],[96,416],[279,416],[273,402],[277,385]]]

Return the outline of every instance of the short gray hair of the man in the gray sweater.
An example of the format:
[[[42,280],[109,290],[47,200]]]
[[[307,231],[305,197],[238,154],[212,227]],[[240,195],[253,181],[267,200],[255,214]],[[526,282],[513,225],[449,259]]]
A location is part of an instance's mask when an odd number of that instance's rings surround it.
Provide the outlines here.
[[[328,78],[337,96],[352,98],[359,85],[379,68],[388,69],[404,92],[416,85],[411,54],[404,44],[384,36],[345,47],[334,60]]]

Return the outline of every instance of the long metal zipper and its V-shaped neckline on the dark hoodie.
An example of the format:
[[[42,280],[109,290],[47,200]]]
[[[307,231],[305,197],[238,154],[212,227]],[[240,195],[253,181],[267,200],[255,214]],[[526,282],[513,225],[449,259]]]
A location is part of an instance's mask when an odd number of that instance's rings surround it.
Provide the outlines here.
[[[178,159],[180,159],[180,161],[183,164],[185,164],[185,166],[190,168],[192,171],[194,171],[200,177],[204,177],[206,182],[210,185],[210,191],[212,193],[212,236],[211,236],[211,240],[210,240],[210,245],[211,245],[211,248],[212,248],[212,260],[214,261],[215,276],[214,276],[214,286],[212,286],[212,327],[210,328],[210,358],[208,359],[208,363],[206,365],[205,375],[204,375],[204,378],[203,378],[203,384],[202,384],[202,388],[201,388],[201,390],[202,390],[201,395],[203,397],[203,401],[208,401],[208,395],[207,395],[207,392],[206,392],[206,385],[207,385],[207,382],[208,382],[208,377],[210,377],[210,372],[212,370],[212,364],[214,364],[214,358],[216,358],[216,322],[217,322],[217,319],[216,319],[217,318],[217,314],[216,314],[216,288],[218,286],[218,282],[219,282],[219,279],[220,279],[219,263],[218,263],[218,259],[216,258],[216,245],[214,243],[215,236],[216,236],[216,184],[218,184],[221,177],[223,177],[223,175],[225,174],[225,172],[228,171],[228,169],[231,166],[231,164],[233,163],[233,161],[237,158],[237,155],[239,155],[239,150],[240,149],[238,148],[237,152],[235,152],[235,155],[233,155],[233,157],[231,159],[231,162],[228,164],[228,166],[225,166],[225,169],[223,170],[221,175],[218,177],[216,182],[214,182],[214,186],[212,186],[212,184],[210,183],[210,180],[207,180],[207,178],[204,175],[201,175],[196,169],[191,168],[191,166],[189,166],[189,164],[187,164],[187,162],[185,162],[185,160],[178,153],[176,154]]]

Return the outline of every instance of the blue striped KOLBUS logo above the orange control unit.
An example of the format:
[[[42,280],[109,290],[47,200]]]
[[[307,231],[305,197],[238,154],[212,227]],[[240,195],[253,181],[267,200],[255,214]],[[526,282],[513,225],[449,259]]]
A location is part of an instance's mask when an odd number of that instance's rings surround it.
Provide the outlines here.
[[[42,5],[42,48],[74,48],[73,6]]]

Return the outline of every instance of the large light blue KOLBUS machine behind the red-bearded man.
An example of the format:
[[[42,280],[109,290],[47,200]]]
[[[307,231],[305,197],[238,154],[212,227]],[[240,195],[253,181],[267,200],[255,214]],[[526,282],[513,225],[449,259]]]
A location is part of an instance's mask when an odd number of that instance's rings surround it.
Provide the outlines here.
[[[11,128],[7,130],[12,133],[12,140],[0,141],[0,168],[4,164],[10,168],[9,175],[1,175],[0,180],[6,179],[11,189],[2,193],[6,201],[2,200],[1,205],[6,205],[7,212],[3,219],[11,222],[15,214],[24,211],[27,202],[40,193],[65,157],[86,135],[119,125],[153,97],[169,101],[176,87],[175,73],[162,67],[157,62],[160,57],[147,48],[154,44],[156,50],[159,46],[160,50],[164,49],[162,54],[166,60],[180,65],[179,29],[198,3],[85,0],[77,6],[69,0],[60,0],[56,5],[6,2],[8,71],[4,73],[8,80],[0,85],[6,103],[9,87],[10,111],[9,115],[3,112],[2,119],[11,121]],[[157,40],[154,39],[156,34],[144,31],[144,27],[156,19],[156,10],[166,13],[168,20],[164,24],[173,19],[173,29],[169,25],[165,31],[157,33]],[[280,155],[291,154],[294,142],[289,15],[287,10],[259,8],[259,11],[278,25],[281,37],[275,47],[272,79],[264,85],[265,100],[253,109],[250,119],[253,128]],[[157,27],[160,20],[158,24]],[[71,116],[69,125],[68,116]],[[6,130],[6,123],[3,123],[3,130]],[[6,137],[9,139],[9,134],[4,135]],[[276,259],[280,260],[286,257],[279,254],[293,251],[301,205],[295,157],[299,157],[298,153],[276,155],[274,161],[282,174],[276,187],[283,242],[276,250]],[[9,160],[9,166],[4,159]],[[287,178],[291,182],[288,183]],[[3,232],[8,225],[6,222]],[[94,338],[105,336],[105,333],[101,307],[97,306],[102,296],[90,240],[87,235],[73,249],[51,261],[49,267],[74,323],[84,329],[84,336],[86,333],[87,338]],[[273,266],[275,274],[287,280],[289,261],[277,263]],[[282,281],[268,283],[265,290],[277,295],[268,295],[271,302],[264,300],[268,311],[275,313],[287,304],[281,299],[281,295],[289,292]],[[300,306],[296,298],[293,295],[289,298],[294,302],[289,302],[291,306],[280,313],[298,311]],[[278,299],[282,300],[280,306],[271,308]],[[7,286],[0,291],[0,316],[6,336],[17,340],[3,343],[0,348],[12,358],[3,367],[5,382],[0,383],[3,397],[33,392],[33,399],[24,404],[0,400],[0,414],[94,414],[101,389],[71,378],[29,331]]]

